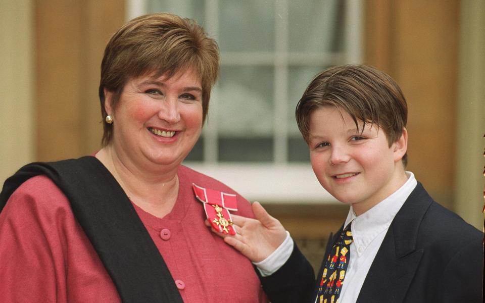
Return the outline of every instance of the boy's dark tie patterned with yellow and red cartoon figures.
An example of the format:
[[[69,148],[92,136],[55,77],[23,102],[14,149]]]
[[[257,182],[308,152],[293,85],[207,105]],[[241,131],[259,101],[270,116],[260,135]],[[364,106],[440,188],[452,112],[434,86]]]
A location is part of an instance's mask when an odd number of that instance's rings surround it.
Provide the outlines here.
[[[351,225],[352,222],[342,231],[327,257],[318,288],[318,303],[338,303],[350,260],[350,243],[353,242]]]

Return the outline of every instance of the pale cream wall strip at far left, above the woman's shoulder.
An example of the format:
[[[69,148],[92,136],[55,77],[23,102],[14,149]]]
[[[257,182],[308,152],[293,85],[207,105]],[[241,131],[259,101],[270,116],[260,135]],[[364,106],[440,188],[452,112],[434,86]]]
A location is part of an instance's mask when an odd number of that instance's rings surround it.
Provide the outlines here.
[[[35,159],[33,8],[0,1],[0,179]]]

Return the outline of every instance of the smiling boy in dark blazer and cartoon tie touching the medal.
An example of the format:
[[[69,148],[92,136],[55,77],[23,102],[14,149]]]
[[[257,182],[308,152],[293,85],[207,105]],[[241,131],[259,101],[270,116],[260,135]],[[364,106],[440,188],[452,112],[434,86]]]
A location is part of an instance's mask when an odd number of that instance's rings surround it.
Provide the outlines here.
[[[390,76],[362,65],[327,69],[296,118],[318,181],[350,211],[313,295],[308,263],[276,219],[258,203],[259,221],[233,216],[237,234],[225,241],[255,263],[273,303],[482,301],[483,234],[405,171],[407,105]]]

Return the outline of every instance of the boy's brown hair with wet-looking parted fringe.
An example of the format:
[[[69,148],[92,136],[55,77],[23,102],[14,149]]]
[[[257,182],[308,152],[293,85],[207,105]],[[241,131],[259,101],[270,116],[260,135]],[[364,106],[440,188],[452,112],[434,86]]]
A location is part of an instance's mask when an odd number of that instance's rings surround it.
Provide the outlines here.
[[[365,65],[331,67],[318,74],[298,102],[298,128],[308,143],[310,115],[318,108],[334,106],[358,122],[375,123],[386,134],[391,146],[406,127],[408,107],[398,84],[387,74]],[[407,155],[403,157],[407,164]]]

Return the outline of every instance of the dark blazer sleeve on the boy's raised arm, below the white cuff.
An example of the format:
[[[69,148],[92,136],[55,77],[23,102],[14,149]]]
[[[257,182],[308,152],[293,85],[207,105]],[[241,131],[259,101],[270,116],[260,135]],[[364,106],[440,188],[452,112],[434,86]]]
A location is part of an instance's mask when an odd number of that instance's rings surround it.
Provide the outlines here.
[[[311,302],[315,287],[315,274],[298,246],[280,269],[270,276],[262,277],[257,271],[263,290],[272,303]]]

